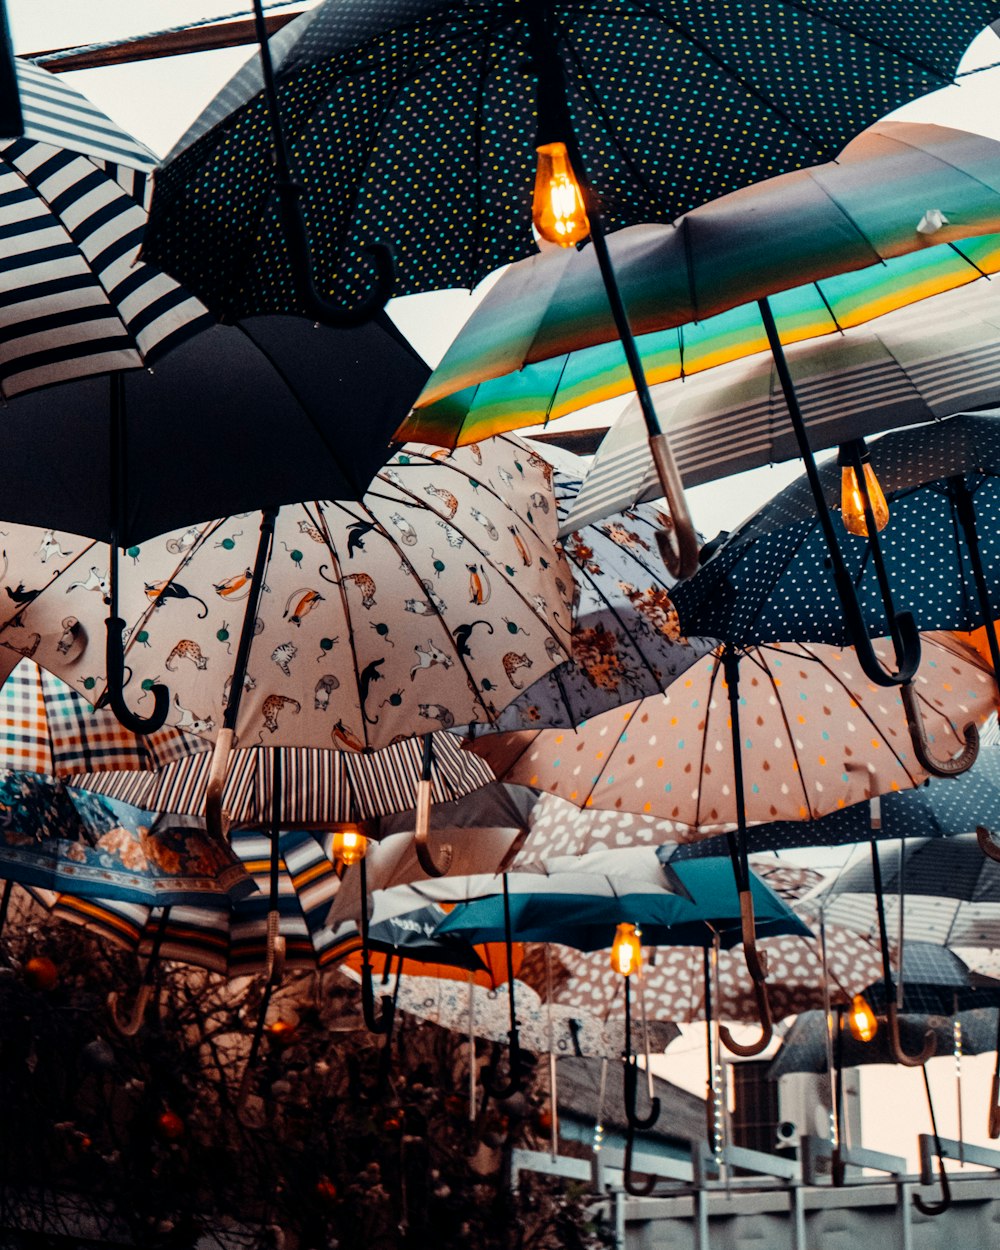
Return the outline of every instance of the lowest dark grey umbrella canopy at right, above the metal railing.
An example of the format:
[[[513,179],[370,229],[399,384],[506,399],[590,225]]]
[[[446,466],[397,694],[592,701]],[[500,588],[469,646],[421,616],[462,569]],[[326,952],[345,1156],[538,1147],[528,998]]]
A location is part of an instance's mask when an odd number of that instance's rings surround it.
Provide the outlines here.
[[[961,1049],[966,1055],[982,1055],[996,1045],[996,1008],[972,1008],[960,1011],[955,1019],[961,1025]],[[954,1046],[952,1020],[935,1016],[902,1015],[899,1031],[906,1050],[915,1050],[920,1040],[931,1030],[939,1055],[946,1055]],[[884,1030],[871,1041],[855,1041],[842,1025],[834,1042],[840,1052],[840,1068],[860,1068],[862,1064],[891,1064],[894,1058],[886,1044]],[[781,1040],[781,1048],[768,1065],[768,1079],[778,1080],[789,1072],[826,1071],[826,1012],[802,1011],[791,1022]]]

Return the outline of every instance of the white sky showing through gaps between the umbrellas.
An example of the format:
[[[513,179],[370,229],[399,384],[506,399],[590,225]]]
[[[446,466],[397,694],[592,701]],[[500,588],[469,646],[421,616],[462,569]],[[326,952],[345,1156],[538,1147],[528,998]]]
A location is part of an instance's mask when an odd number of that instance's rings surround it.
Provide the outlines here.
[[[304,5],[306,6],[306,5]],[[199,18],[249,12],[241,0],[9,0],[15,50],[35,52],[96,42],[182,25]],[[166,152],[228,78],[254,55],[250,48],[175,56],[134,65],[68,75],[80,91],[154,151]],[[984,32],[971,46],[962,69],[1000,60],[1000,40]],[[1000,140],[1000,70],[974,75],[958,86],[925,96],[896,116],[935,121]],[[489,281],[489,280],[488,280]],[[480,288],[481,295],[482,288]],[[476,296],[449,291],[394,301],[394,315],[432,364],[476,304]],[[622,406],[615,401],[611,414]],[[609,405],[590,418],[578,414],[568,426],[606,424]],[[705,534],[731,529],[799,471],[798,461],[754,470],[725,484],[691,491],[695,522]],[[739,1035],[739,1034],[738,1034]],[[692,1030],[656,1060],[658,1070],[698,1094],[704,1092],[704,1031]],[[945,1136],[956,1136],[955,1074],[950,1058],[928,1065]],[[985,1135],[992,1056],[966,1059],[966,1139],[992,1145]],[[896,1068],[861,1069],[865,1145],[905,1154],[916,1161],[916,1134],[929,1130],[919,1072]]]

